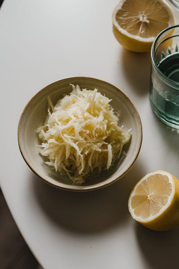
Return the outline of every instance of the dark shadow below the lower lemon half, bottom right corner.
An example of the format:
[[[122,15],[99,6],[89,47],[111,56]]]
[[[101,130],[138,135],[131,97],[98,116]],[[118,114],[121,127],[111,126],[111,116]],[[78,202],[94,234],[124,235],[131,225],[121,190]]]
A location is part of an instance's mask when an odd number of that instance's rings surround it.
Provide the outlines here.
[[[136,238],[141,254],[152,269],[178,269],[179,227],[156,232],[136,222]]]

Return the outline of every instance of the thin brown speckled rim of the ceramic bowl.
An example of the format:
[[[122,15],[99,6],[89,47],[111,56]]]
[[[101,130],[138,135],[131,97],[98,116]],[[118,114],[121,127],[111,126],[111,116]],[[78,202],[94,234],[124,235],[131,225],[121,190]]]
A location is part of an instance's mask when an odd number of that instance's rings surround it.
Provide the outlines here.
[[[22,121],[22,118],[23,118],[23,114],[24,114],[24,111],[25,111],[25,109],[27,108],[27,106],[30,104],[30,102],[33,100],[33,98],[36,96],[36,95],[38,95],[41,91],[43,91],[43,90],[45,90],[47,87],[49,87],[49,86],[51,86],[51,85],[53,85],[53,84],[56,84],[56,83],[59,83],[59,81],[62,81],[62,80],[67,80],[67,79],[92,79],[92,80],[97,80],[97,81],[99,81],[99,82],[102,82],[102,83],[106,83],[106,84],[108,84],[109,86],[112,86],[112,87],[114,87],[114,89],[116,89],[117,91],[120,91],[123,95],[125,95],[125,97],[130,101],[130,103],[133,105],[133,107],[134,107],[134,110],[135,110],[135,112],[136,112],[136,114],[137,114],[137,117],[138,117],[138,120],[139,120],[139,125],[140,125],[140,142],[139,142],[139,146],[138,146],[138,148],[137,148],[137,151],[136,151],[136,155],[134,156],[134,158],[133,158],[133,160],[131,161],[131,163],[130,163],[130,166],[126,169],[126,171],[125,172],[123,172],[123,174],[122,175],[120,175],[120,176],[117,176],[115,179],[113,179],[113,180],[111,180],[110,182],[107,182],[107,183],[103,183],[103,181],[102,182],[100,182],[99,183],[99,185],[98,186],[87,186],[87,187],[85,187],[84,186],[84,188],[83,189],[79,189],[78,188],[78,185],[76,185],[76,188],[75,189],[72,189],[71,187],[70,187],[70,185],[68,186],[66,186],[66,187],[63,187],[63,186],[59,186],[58,184],[55,184],[55,183],[52,183],[52,182],[49,182],[46,178],[44,178],[43,176],[41,176],[32,166],[31,166],[31,164],[28,162],[28,160],[26,159],[26,157],[25,157],[25,154],[24,154],[24,152],[23,152],[23,149],[22,149],[22,146],[21,146],[21,141],[20,141],[20,127],[21,127],[21,121]],[[114,182],[116,182],[118,179],[120,179],[120,178],[122,178],[130,169],[131,169],[131,167],[133,166],[133,164],[134,164],[134,162],[136,161],[136,159],[137,159],[137,157],[138,157],[138,154],[139,154],[139,152],[140,152],[140,148],[141,148],[141,144],[142,144],[142,123],[141,123],[141,119],[140,119],[140,116],[139,116],[139,113],[138,113],[138,111],[137,111],[137,108],[135,107],[135,105],[133,104],[133,102],[129,99],[129,97],[125,94],[125,93],[123,93],[123,91],[121,91],[118,87],[116,87],[116,86],[114,86],[113,84],[111,84],[111,83],[109,83],[109,82],[106,82],[106,81],[104,81],[104,80],[101,80],[101,79],[96,79],[96,78],[93,78],[93,77],[82,77],[82,76],[74,76],[74,77],[65,77],[65,78],[63,78],[63,79],[60,79],[60,80],[57,80],[57,81],[55,81],[55,82],[52,82],[52,83],[50,83],[49,85],[47,85],[46,87],[44,87],[42,90],[40,90],[40,91],[38,91],[29,101],[28,101],[28,103],[26,104],[26,106],[25,106],[25,108],[23,109],[23,112],[22,112],[22,114],[21,114],[21,116],[20,116],[20,119],[19,119],[19,125],[18,125],[18,131],[17,131],[17,135],[18,135],[18,144],[19,144],[19,149],[20,149],[20,152],[21,152],[21,155],[22,155],[22,157],[23,157],[23,159],[24,159],[24,161],[26,162],[26,164],[28,165],[28,167],[39,177],[39,178],[41,178],[43,181],[45,181],[46,183],[48,183],[49,185],[52,185],[52,186],[54,186],[54,187],[57,187],[57,188],[59,188],[59,189],[63,189],[63,190],[70,190],[70,191],[76,191],[76,192],[85,192],[85,191],[90,191],[90,190],[97,190],[97,189],[101,189],[101,188],[103,188],[103,187],[106,187],[106,186],[109,186],[109,185],[111,185],[112,183],[114,183]],[[60,182],[59,182],[60,183]]]

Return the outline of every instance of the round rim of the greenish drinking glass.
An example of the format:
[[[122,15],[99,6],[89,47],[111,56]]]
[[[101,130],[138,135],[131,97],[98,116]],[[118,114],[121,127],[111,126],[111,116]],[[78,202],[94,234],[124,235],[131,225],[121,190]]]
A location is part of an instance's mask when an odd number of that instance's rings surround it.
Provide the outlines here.
[[[158,36],[155,38],[153,44],[152,44],[152,48],[151,48],[151,61],[152,61],[152,65],[157,73],[158,76],[160,76],[160,78],[163,80],[163,82],[165,82],[166,84],[168,84],[169,86],[172,86],[172,87],[176,87],[177,86],[177,89],[179,89],[179,82],[176,82],[172,79],[169,79],[167,76],[165,76],[161,71],[160,69],[158,68],[156,62],[155,62],[155,55],[154,55],[154,49],[155,49],[155,46],[156,46],[156,43],[159,39],[160,36],[162,36],[163,33],[165,33],[166,31],[168,30],[171,30],[173,28],[177,28],[179,27],[179,24],[176,24],[176,25],[172,25],[170,27],[167,27],[166,29],[164,29],[163,31],[161,31]],[[179,35],[178,35],[179,36]],[[163,40],[164,41],[164,40]],[[162,41],[162,42],[163,42]],[[161,43],[162,43],[161,42]],[[161,44],[160,43],[160,44]]]

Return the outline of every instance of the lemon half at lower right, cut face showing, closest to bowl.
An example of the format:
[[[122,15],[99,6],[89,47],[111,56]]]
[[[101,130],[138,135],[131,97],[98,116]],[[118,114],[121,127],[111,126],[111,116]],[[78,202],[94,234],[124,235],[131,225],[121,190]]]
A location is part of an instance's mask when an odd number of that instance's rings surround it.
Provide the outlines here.
[[[166,171],[144,176],[132,190],[128,207],[134,220],[165,231],[179,225],[179,180]]]

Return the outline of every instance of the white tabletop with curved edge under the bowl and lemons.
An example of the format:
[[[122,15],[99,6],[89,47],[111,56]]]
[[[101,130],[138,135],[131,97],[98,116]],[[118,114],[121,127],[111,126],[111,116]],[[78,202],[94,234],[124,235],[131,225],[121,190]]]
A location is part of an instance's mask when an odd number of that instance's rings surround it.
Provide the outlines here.
[[[179,229],[151,231],[134,221],[127,208],[135,183],[148,172],[163,169],[179,177],[179,134],[151,110],[150,54],[127,51],[112,33],[117,3],[5,0],[0,10],[1,188],[44,269],[178,268]],[[117,183],[89,193],[42,182],[25,164],[17,143],[28,100],[69,76],[115,84],[134,102],[143,125],[132,169]]]

